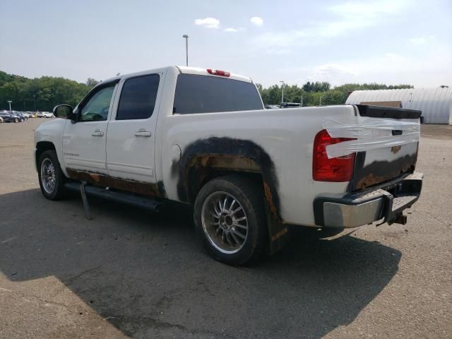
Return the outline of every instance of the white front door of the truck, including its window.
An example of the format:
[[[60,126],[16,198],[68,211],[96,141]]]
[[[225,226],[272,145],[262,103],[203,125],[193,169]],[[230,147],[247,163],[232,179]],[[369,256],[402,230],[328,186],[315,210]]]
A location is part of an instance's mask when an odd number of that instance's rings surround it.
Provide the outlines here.
[[[78,106],[78,120],[68,121],[63,133],[67,169],[107,174],[105,141],[116,83],[95,88]]]

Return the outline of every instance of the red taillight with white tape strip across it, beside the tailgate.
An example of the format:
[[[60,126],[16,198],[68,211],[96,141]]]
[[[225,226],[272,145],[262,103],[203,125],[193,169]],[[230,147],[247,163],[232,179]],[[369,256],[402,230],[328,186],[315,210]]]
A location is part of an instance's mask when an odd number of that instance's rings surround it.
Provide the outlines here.
[[[314,139],[312,179],[318,182],[350,182],[355,165],[355,153],[344,157],[328,159],[326,146],[354,138],[331,138],[326,129],[317,133]]]

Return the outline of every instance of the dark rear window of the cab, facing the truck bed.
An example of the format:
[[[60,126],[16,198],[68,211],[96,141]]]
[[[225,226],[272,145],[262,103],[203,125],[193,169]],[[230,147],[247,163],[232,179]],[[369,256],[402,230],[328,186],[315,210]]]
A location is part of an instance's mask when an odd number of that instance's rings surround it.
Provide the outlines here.
[[[173,113],[194,114],[263,109],[261,97],[253,83],[179,74],[174,95]]]

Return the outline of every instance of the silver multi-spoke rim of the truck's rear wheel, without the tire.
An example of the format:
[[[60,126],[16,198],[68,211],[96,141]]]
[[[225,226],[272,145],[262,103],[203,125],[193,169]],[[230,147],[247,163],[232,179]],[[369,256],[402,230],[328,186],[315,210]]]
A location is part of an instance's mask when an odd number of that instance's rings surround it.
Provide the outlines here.
[[[245,210],[237,198],[226,192],[215,192],[206,198],[201,222],[210,244],[224,254],[240,251],[248,237]]]

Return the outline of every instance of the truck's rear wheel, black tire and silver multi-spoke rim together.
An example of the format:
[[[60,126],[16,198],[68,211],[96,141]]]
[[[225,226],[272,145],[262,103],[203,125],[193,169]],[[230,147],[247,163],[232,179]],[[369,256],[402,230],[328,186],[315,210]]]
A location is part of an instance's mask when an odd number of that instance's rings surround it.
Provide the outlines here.
[[[233,174],[210,180],[196,196],[194,222],[208,254],[228,265],[254,263],[266,248],[263,190],[251,179]]]

